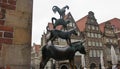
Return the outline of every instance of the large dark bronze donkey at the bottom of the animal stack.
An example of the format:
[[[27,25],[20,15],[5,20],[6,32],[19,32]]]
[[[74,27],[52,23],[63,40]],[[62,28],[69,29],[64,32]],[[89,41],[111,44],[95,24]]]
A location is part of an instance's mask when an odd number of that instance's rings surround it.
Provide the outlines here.
[[[42,48],[42,60],[40,62],[40,68],[44,69],[50,58],[57,61],[69,60],[71,69],[75,69],[74,66],[74,56],[75,52],[79,51],[82,54],[86,54],[85,48],[83,46],[84,41],[78,41],[71,43],[71,46],[58,47],[54,45],[45,45]]]

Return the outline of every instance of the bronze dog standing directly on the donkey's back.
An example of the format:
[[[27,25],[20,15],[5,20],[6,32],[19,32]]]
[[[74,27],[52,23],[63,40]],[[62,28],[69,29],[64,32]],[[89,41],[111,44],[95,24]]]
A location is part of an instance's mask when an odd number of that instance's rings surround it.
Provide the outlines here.
[[[71,44],[71,35],[74,34],[74,35],[77,35],[77,32],[75,31],[75,29],[71,30],[71,31],[68,31],[68,32],[64,32],[64,31],[61,31],[61,30],[48,30],[50,32],[50,37],[47,39],[47,42],[49,40],[51,40],[51,43],[53,44],[53,41],[60,37],[62,39],[65,39],[67,41],[67,44],[70,45]]]

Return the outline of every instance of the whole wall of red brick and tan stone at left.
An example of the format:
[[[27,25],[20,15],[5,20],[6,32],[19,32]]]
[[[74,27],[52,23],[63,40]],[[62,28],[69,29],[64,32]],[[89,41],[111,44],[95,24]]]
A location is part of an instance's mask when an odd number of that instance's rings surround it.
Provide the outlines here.
[[[0,68],[30,68],[32,3],[0,0]]]

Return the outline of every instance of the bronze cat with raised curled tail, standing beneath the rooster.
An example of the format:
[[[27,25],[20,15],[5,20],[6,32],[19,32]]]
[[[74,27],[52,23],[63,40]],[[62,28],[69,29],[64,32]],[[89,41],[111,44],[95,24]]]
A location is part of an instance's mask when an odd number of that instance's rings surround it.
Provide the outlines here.
[[[55,22],[54,22],[55,20]],[[55,29],[58,25],[62,25],[64,27],[64,29],[67,30],[67,24],[69,24],[70,21],[65,21],[64,19],[56,19],[55,17],[52,17],[52,24],[53,24],[53,28]]]

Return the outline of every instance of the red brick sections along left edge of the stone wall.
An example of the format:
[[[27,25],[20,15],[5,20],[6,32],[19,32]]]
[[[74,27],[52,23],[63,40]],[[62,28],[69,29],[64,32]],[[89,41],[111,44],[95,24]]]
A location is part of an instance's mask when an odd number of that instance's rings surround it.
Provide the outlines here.
[[[12,44],[13,42],[13,28],[4,26],[6,9],[15,10],[16,0],[0,0],[0,50],[2,43]]]

